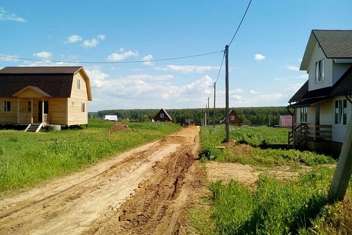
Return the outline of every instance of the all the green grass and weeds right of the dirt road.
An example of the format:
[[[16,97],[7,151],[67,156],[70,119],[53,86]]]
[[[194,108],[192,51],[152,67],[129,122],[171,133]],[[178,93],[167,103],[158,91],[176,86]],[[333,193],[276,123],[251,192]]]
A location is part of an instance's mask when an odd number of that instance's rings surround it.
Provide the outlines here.
[[[336,161],[313,152],[286,150],[287,130],[231,127],[230,139],[220,151],[224,127],[202,128],[202,161],[241,162],[260,167],[302,166],[311,168],[293,179],[275,179],[262,172],[254,189],[237,181],[210,182],[203,197],[189,214],[200,234],[352,234],[352,186],[345,200],[330,203],[328,191]]]

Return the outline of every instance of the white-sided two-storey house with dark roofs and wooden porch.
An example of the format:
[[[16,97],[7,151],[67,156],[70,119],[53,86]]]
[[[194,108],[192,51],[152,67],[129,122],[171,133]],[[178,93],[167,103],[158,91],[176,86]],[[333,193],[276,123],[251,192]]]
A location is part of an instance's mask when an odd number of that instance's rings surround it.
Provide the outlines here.
[[[288,145],[338,155],[352,110],[352,30],[312,30],[299,69],[309,78],[289,100]]]

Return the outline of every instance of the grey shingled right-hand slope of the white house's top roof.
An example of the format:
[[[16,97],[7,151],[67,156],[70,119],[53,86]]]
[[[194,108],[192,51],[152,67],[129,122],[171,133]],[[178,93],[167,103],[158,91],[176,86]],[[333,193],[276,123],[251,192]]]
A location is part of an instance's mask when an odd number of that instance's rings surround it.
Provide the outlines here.
[[[312,30],[326,58],[352,58],[352,30]]]

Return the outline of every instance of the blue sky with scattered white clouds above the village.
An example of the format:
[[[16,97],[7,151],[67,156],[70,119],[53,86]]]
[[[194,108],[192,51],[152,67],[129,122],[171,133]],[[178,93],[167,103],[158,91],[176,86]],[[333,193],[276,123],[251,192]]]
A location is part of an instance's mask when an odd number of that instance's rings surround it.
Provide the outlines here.
[[[0,68],[83,66],[89,111],[205,108],[208,97],[213,107],[220,71],[216,106],[224,107],[220,51],[248,3],[3,0]],[[308,79],[298,67],[311,30],[352,30],[351,12],[350,0],[253,0],[229,48],[230,107],[286,106]]]

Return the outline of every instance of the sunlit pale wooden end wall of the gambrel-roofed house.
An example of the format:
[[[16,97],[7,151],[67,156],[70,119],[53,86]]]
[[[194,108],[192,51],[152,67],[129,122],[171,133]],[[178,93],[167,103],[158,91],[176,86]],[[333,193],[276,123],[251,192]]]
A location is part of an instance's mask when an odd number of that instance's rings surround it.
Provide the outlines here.
[[[81,89],[77,87],[77,80],[81,80]],[[72,105],[74,102],[74,106]],[[85,110],[82,111],[82,103],[85,103]],[[67,108],[67,125],[88,124],[88,95],[87,81],[81,71],[73,76],[71,97],[68,98]]]

